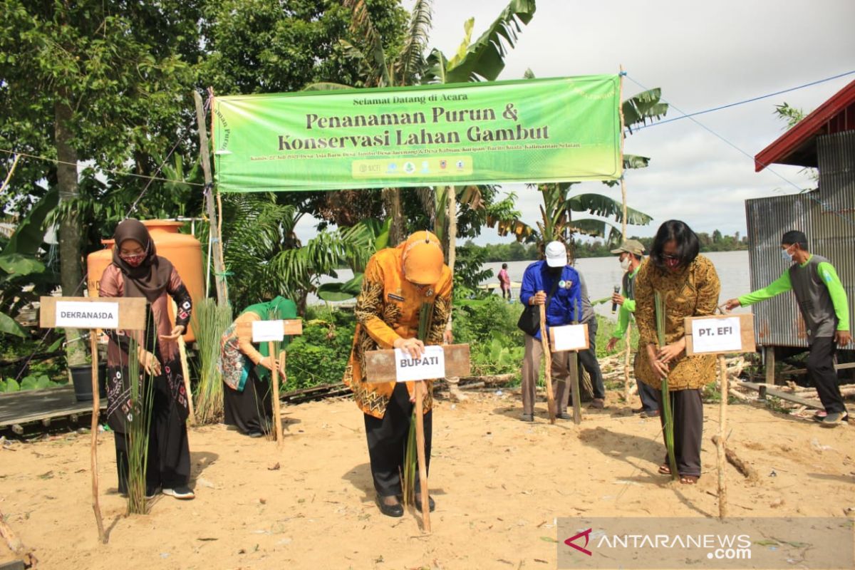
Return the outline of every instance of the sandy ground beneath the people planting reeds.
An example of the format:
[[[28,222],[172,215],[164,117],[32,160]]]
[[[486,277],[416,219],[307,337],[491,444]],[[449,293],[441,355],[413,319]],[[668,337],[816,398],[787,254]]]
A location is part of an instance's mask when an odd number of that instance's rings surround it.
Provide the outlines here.
[[[616,400],[610,394],[610,401]],[[634,402],[633,405],[637,405]],[[115,491],[112,434],[99,437],[97,543],[89,437],[67,434],[0,449],[0,510],[41,568],[553,568],[556,517],[715,516],[718,409],[705,409],[699,485],[657,475],[658,420],[612,403],[581,426],[518,420],[513,392],[438,403],[431,490],[433,534],[418,514],[374,506],[362,414],[349,399],[283,408],[286,438],[193,429],[194,501],[158,497],[125,515]],[[855,427],[823,429],[764,408],[732,405],[730,445],[760,473],[728,467],[734,516],[845,516],[855,506]],[[775,476],[771,476],[771,473]]]

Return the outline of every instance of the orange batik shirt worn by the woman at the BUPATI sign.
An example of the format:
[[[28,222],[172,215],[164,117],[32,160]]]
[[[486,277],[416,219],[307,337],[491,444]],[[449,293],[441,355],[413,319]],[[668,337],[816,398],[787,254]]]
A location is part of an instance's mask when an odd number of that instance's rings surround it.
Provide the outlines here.
[[[363,289],[357,298],[357,330],[353,335],[351,359],[345,368],[345,385],[350,386],[357,406],[365,414],[382,419],[395,389],[394,382],[365,382],[365,352],[391,349],[398,338],[418,335],[422,303],[433,302],[433,319],[425,344],[442,344],[451,316],[451,269],[442,267],[434,285],[416,285],[404,279],[404,244],[374,254],[365,268]],[[407,383],[410,396],[413,383]],[[428,382],[423,413],[433,408],[433,382]]]

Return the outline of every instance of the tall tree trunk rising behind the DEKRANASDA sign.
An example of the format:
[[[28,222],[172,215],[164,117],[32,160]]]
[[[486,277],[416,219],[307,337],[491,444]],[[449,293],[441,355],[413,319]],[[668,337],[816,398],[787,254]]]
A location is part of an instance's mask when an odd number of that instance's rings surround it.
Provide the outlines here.
[[[71,121],[71,107],[68,105],[68,95],[60,91],[54,103],[54,142],[56,144],[56,184],[59,186],[60,207],[74,202],[78,197],[77,190],[77,151],[69,141],[71,131],[68,127]],[[80,218],[74,208],[64,210],[59,224],[59,259],[60,285],[63,297],[82,297],[83,267],[80,247]],[[86,363],[86,347],[80,342],[80,331],[74,328],[65,329],[66,360],[68,366]]]

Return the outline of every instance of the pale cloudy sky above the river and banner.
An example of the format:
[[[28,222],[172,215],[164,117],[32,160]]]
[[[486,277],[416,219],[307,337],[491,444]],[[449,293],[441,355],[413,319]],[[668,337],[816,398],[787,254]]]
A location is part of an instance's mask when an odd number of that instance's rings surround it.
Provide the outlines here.
[[[477,38],[508,0],[434,0],[431,46],[451,56],[463,22],[475,17]],[[408,9],[413,0],[404,0]],[[540,78],[628,73],[624,95],[661,87],[672,105],[667,118],[782,91],[855,71],[855,2],[852,0],[540,0],[534,19],[506,58],[499,79],[519,79],[526,68]],[[798,167],[755,173],[753,156],[778,138],[784,122],[774,115],[783,102],[811,111],[855,79],[849,75],[732,109],[697,117],[749,156],[692,120],[651,126],[627,139],[628,154],[650,156],[650,167],[626,174],[628,203],[654,218],[629,232],[651,235],[663,220],[685,220],[698,232],[746,232],[747,198],[791,193],[811,185]],[[636,85],[637,82],[640,85]],[[598,183],[580,191],[602,191]],[[540,216],[540,195],[507,186],[518,195],[523,220]],[[507,238],[489,229],[479,243]]]

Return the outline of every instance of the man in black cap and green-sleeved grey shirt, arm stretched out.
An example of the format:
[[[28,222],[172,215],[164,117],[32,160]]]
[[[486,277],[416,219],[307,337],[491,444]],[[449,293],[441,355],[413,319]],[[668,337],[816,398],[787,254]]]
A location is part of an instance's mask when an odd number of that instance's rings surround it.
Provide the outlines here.
[[[785,291],[793,291],[805,320],[811,351],[807,370],[825,408],[825,412],[818,413],[814,419],[823,426],[836,426],[848,419],[834,371],[835,344],[845,346],[852,342],[846,290],[831,262],[823,256],[811,255],[807,250],[807,237],[803,232],[793,230],[783,235],[781,256],[792,265],[780,278],[764,289],[730,299],[724,304],[728,310],[746,307]]]

